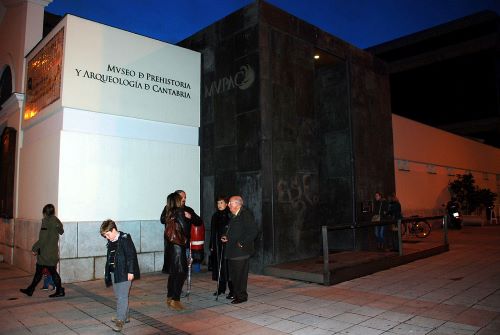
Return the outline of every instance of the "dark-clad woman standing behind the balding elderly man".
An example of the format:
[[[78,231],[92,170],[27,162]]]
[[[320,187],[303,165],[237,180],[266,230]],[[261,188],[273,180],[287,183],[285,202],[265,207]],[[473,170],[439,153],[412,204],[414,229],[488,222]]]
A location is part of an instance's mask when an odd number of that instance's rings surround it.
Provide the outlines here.
[[[226,287],[229,287],[228,299],[234,299],[233,283],[228,278],[227,260],[221,237],[226,234],[229,228],[230,211],[227,207],[225,197],[217,198],[217,211],[212,215],[210,224],[210,257],[212,263],[212,280],[218,281],[217,290],[214,295],[224,294]],[[219,270],[220,266],[220,270]],[[220,278],[219,278],[220,274]]]

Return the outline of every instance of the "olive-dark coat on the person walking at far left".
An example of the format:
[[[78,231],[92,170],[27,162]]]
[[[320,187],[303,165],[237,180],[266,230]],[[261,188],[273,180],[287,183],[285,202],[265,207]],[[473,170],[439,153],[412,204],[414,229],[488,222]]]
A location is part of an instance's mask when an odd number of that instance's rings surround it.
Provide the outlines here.
[[[38,241],[31,250],[37,253],[36,262],[40,265],[56,266],[59,262],[59,235],[64,234],[61,221],[55,215],[42,219]]]

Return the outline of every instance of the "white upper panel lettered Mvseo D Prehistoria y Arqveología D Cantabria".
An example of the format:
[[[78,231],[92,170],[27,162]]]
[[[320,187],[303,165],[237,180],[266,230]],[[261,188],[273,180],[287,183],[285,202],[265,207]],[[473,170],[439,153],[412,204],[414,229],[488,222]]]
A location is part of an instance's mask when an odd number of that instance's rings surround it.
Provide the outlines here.
[[[62,106],[199,126],[200,54],[66,17]]]

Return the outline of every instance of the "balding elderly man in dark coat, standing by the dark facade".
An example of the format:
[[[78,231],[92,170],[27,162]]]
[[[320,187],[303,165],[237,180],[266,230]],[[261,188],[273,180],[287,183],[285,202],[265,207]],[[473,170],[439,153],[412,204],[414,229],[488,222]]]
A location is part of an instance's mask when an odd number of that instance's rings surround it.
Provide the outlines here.
[[[254,241],[259,231],[252,212],[243,207],[241,196],[229,198],[228,206],[231,212],[229,230],[221,237],[221,241],[226,243],[229,278],[233,283],[234,299],[231,303],[240,304],[248,300],[250,257],[255,251]]]

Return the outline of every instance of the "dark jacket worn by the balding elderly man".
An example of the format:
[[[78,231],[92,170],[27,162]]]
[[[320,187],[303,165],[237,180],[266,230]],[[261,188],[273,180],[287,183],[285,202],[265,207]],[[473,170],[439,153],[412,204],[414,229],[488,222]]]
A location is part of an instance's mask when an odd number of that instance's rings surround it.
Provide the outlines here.
[[[227,232],[226,258],[250,257],[255,252],[254,241],[259,230],[252,212],[241,207],[237,215],[231,214]]]

